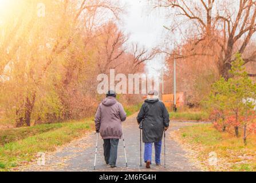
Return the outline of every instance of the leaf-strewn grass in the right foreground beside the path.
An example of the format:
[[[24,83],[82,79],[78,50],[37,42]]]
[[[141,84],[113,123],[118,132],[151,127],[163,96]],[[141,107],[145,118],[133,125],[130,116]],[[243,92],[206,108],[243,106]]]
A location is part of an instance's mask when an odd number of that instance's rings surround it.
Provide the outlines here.
[[[183,148],[191,152],[205,170],[256,171],[256,136],[250,136],[247,146],[242,138],[216,130],[212,124],[187,126],[176,131],[175,136]],[[217,164],[210,165],[210,153],[217,154]]]

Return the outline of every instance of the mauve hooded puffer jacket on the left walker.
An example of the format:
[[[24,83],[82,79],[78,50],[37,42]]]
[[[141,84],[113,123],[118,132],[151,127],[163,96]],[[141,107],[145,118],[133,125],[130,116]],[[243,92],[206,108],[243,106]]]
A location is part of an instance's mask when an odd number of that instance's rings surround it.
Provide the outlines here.
[[[120,139],[123,135],[121,122],[125,120],[126,113],[123,106],[115,97],[107,97],[99,105],[94,122],[96,130],[100,130],[103,139]]]

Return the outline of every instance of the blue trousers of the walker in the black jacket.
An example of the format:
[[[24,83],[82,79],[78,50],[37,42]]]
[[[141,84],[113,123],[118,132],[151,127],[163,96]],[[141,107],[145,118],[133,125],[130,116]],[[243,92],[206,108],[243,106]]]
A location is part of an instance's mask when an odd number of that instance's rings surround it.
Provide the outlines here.
[[[145,148],[144,148],[144,161],[147,162],[148,160],[150,162],[152,158],[152,144],[153,143],[145,143]],[[161,146],[162,146],[162,141],[155,142],[155,162],[156,164],[160,165],[160,158],[161,158]]]

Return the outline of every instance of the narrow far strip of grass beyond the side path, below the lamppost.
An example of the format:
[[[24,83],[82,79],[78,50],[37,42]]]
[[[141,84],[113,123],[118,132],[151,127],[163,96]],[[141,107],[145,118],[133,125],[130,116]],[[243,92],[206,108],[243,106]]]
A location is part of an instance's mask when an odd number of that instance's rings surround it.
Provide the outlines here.
[[[208,115],[205,112],[171,112],[170,113],[171,120],[188,120],[188,121],[203,121],[208,119]]]

